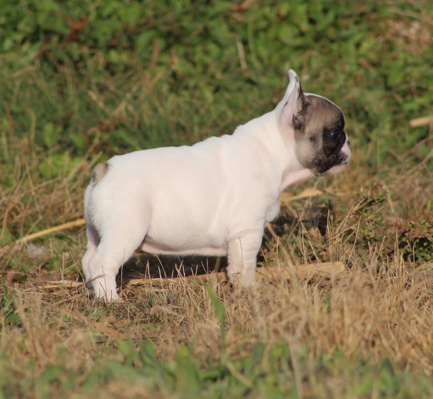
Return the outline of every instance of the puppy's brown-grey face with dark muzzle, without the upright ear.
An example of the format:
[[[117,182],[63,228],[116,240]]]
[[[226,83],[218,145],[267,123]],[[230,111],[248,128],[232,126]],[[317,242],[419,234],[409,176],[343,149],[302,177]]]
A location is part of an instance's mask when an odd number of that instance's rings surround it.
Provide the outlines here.
[[[343,113],[324,97],[300,95],[301,111],[293,118],[300,163],[316,176],[342,171],[351,155]]]

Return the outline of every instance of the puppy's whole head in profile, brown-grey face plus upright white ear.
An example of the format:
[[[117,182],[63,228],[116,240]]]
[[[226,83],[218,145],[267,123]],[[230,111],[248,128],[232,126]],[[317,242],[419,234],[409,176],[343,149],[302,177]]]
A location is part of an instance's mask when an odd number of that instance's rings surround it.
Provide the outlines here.
[[[350,159],[344,115],[330,100],[304,93],[298,75],[289,70],[290,83],[277,109],[283,134],[294,134],[300,164],[314,175],[342,171]]]

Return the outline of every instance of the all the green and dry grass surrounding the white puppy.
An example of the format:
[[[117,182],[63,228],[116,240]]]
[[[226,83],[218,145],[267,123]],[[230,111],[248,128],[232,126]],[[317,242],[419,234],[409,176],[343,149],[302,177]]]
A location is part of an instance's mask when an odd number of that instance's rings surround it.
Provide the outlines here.
[[[41,4],[0,11],[0,397],[432,397],[433,136],[409,127],[432,112],[431,2]],[[124,284],[110,306],[43,288],[81,278],[84,228],[16,241],[82,217],[96,162],[231,133],[288,67],[344,110],[354,156],[289,189],[323,194],[283,207],[259,263],[346,275]]]

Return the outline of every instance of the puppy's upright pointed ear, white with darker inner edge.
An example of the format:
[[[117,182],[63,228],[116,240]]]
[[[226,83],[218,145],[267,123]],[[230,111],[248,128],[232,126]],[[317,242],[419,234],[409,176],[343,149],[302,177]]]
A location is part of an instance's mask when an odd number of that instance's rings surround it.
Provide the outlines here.
[[[283,129],[286,126],[291,126],[295,130],[300,130],[304,123],[301,111],[307,106],[307,98],[302,92],[296,72],[290,69],[288,74],[290,82],[281,100],[282,108],[280,110],[279,123]]]

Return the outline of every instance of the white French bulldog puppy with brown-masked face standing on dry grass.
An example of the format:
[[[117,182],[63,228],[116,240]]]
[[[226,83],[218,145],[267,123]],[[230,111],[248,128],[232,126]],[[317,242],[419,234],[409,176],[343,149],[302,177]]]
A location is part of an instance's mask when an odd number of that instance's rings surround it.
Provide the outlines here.
[[[350,158],[344,116],[303,93],[297,74],[276,108],[232,135],[193,146],[114,156],[95,167],[84,196],[83,272],[95,295],[118,300],[115,277],[140,248],[228,256],[227,275],[254,281],[266,222],[289,184],[336,173]]]

